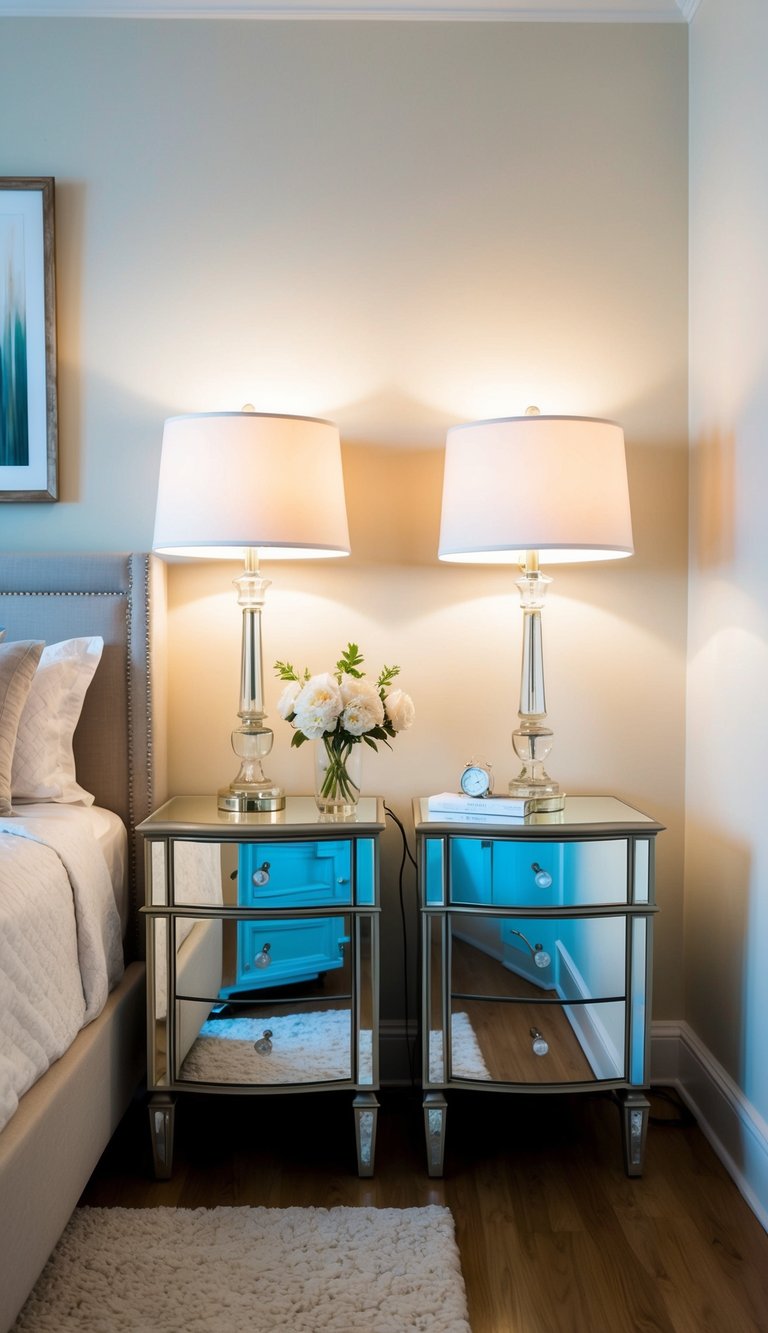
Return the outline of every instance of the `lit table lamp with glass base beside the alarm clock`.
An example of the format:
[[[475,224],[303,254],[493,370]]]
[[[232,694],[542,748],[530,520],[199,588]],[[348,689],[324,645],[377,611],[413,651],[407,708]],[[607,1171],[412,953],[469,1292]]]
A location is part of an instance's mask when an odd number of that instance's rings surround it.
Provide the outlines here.
[[[448,431],[440,560],[516,564],[523,608],[519,725],[523,768],[509,794],[528,809],[560,810],[564,793],[545,769],[547,726],[541,608],[552,581],[540,563],[631,556],[632,519],[624,432],[593,417],[525,416],[473,421]]]

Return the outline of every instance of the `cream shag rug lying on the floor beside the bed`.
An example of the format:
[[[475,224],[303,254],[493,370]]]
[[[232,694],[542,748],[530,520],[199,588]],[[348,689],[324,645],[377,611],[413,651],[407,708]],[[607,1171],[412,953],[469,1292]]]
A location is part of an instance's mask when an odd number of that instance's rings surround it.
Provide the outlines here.
[[[448,1208],[79,1208],[12,1333],[469,1333]]]

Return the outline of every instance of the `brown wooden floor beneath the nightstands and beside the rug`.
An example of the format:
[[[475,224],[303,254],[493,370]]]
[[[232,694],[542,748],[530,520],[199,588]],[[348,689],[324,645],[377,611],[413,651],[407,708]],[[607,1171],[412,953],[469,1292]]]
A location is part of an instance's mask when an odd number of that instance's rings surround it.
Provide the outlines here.
[[[652,1117],[645,1174],[628,1180],[608,1094],[455,1092],[445,1177],[431,1180],[420,1096],[389,1092],[376,1174],[360,1180],[349,1093],[189,1094],[177,1106],[173,1178],[159,1182],[137,1101],[81,1202],[445,1204],[472,1333],[768,1333],[768,1234],[663,1093]]]

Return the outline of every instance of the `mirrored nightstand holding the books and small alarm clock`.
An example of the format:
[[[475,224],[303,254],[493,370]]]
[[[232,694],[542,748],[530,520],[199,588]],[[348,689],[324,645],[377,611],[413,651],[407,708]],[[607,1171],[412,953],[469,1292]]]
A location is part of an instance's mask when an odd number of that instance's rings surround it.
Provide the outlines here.
[[[613,797],[521,820],[415,801],[427,1161],[447,1092],[615,1089],[624,1165],[648,1124],[653,854],[663,826]]]

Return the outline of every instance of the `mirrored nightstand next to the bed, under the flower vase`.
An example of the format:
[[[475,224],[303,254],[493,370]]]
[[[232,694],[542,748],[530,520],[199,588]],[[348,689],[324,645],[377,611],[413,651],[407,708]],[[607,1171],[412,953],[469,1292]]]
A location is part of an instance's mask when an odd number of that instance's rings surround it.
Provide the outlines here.
[[[311,797],[263,814],[176,797],[145,842],[148,1085],[155,1172],[177,1092],[353,1093],[360,1176],[379,1102],[383,802],[327,821]]]

